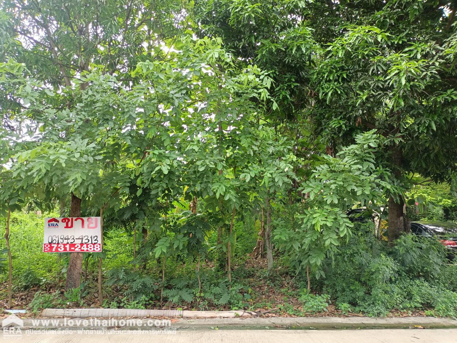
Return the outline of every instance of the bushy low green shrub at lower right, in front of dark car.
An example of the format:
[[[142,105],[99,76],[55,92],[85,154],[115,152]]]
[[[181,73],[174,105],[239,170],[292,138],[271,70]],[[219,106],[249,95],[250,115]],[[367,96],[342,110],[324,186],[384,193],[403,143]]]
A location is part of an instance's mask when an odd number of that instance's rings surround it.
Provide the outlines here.
[[[457,272],[446,264],[444,247],[433,239],[404,235],[388,247],[360,232],[342,243],[334,259],[325,261],[324,270],[326,278],[320,282],[324,292],[355,312],[386,316],[393,309],[438,306],[438,315],[452,315],[452,305],[446,307],[440,294],[452,304],[446,287],[456,287],[452,275]]]

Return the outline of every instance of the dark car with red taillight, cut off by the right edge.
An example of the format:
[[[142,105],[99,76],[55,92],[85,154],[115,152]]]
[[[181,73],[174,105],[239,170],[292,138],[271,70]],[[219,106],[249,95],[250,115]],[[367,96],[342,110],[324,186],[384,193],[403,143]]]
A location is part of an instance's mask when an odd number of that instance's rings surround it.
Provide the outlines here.
[[[453,260],[457,254],[457,224],[442,221],[411,222],[411,232],[417,236],[436,236],[448,248],[447,258]]]

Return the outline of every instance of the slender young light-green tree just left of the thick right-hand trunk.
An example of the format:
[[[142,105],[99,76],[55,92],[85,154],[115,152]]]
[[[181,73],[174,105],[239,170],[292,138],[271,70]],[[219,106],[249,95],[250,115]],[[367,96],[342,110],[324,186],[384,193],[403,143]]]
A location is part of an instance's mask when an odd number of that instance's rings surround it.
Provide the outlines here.
[[[389,172],[377,165],[374,153],[379,144],[372,131],[356,136],[356,144],[340,151],[337,157],[324,155],[316,162],[311,177],[301,185],[309,192],[301,226],[295,230],[282,228],[276,241],[291,255],[297,272],[309,270],[316,279],[325,276],[321,264],[332,257],[341,238],[349,239],[354,226],[346,215],[354,204],[378,209],[383,204],[384,188],[390,188]]]

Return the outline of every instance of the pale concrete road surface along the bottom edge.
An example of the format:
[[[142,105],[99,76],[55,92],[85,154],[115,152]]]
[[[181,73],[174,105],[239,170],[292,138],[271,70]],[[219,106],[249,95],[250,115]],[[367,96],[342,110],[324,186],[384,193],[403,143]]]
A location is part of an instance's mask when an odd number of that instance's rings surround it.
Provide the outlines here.
[[[43,334],[26,336],[22,333],[17,337],[3,337],[0,342],[8,343],[264,343],[264,342],[293,342],[293,343],[370,343],[370,342],[457,342],[457,329],[430,329],[430,330],[202,330],[177,331],[175,334],[151,333],[133,334]]]

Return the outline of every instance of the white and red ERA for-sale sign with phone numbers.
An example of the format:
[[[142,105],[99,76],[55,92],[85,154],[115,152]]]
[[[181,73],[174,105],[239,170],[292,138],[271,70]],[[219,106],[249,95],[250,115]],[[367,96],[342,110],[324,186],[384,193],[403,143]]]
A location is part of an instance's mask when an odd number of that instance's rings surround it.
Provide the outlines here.
[[[44,219],[43,252],[100,251],[100,217]]]

